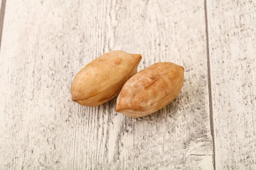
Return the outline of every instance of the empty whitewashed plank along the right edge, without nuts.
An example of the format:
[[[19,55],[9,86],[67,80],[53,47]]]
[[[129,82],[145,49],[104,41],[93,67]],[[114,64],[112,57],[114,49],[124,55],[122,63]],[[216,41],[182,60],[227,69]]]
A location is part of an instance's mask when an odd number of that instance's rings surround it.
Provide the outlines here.
[[[256,169],[256,1],[208,0],[216,169]]]

